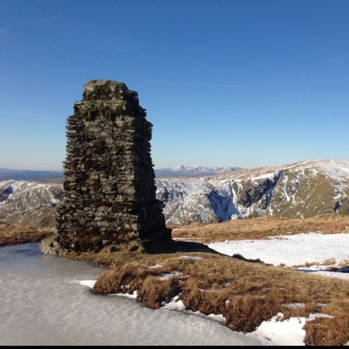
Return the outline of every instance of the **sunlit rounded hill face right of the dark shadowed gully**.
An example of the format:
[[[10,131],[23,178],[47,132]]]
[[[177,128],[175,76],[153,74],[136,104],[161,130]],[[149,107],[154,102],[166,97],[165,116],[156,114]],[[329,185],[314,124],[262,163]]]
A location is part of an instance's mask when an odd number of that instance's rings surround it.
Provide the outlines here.
[[[349,161],[289,165],[274,189],[267,213],[310,217],[318,212],[349,214]]]

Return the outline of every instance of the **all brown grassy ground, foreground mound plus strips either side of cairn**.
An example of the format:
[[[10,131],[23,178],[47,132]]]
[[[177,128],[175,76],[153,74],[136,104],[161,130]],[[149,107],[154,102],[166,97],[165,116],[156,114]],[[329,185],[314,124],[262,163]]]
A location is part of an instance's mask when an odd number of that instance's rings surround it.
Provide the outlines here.
[[[174,237],[203,241],[263,239],[285,233],[348,232],[348,216],[320,216],[304,220],[252,218],[175,230]],[[45,234],[47,234],[46,232]],[[47,235],[50,235],[50,232]],[[0,225],[0,242],[17,244],[41,239],[38,231]],[[44,234],[44,235],[45,235]],[[21,236],[20,236],[21,235]],[[47,236],[45,235],[45,236]],[[27,241],[26,241],[27,239]],[[138,291],[138,301],[159,308],[178,296],[186,309],[222,314],[235,331],[252,332],[279,312],[283,318],[310,313],[332,315],[306,322],[306,345],[337,346],[349,341],[349,283],[290,268],[231,258],[177,242],[167,253],[144,254],[106,247],[100,253],[61,256],[109,265],[94,286],[97,294]],[[156,267],[154,267],[156,266]],[[151,267],[151,268],[149,268]],[[168,279],[162,279],[169,274]],[[302,304],[295,309],[290,304]],[[325,304],[325,305],[324,305]]]

